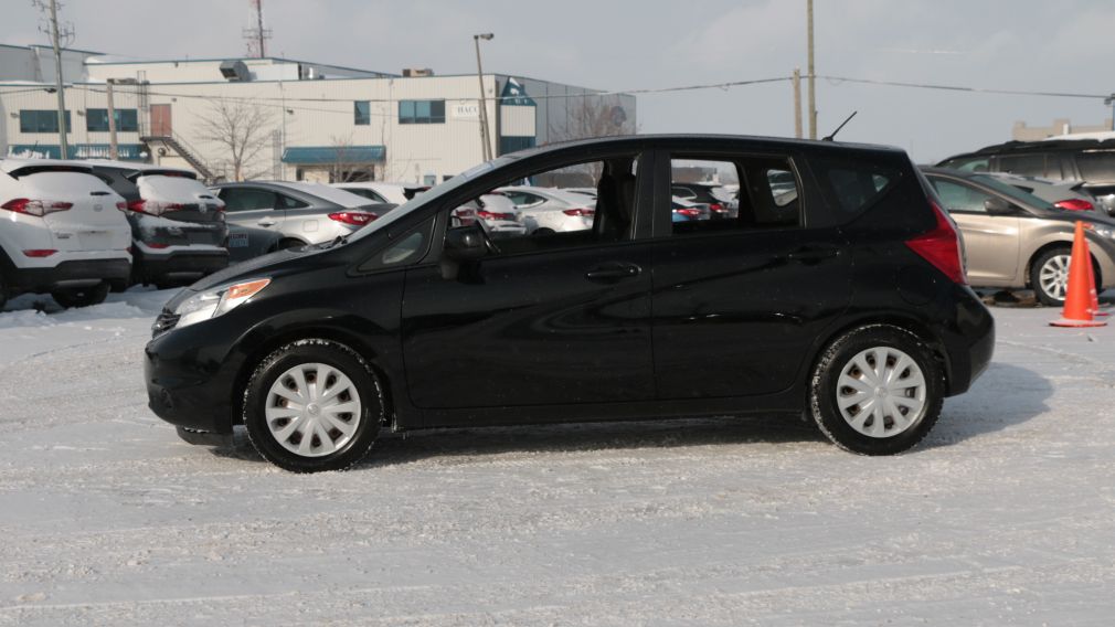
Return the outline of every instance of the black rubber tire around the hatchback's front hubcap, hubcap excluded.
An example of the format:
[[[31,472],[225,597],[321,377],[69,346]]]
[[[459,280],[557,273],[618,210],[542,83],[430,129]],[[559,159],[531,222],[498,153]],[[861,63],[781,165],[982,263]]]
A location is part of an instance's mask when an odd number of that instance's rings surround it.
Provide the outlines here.
[[[347,442],[338,445],[336,451],[318,456],[302,455],[288,450],[287,445],[272,434],[265,415],[272,386],[291,368],[308,364],[324,364],[343,374],[352,383],[357,401],[360,403],[359,416],[349,417],[359,419]],[[313,384],[317,386],[316,382]],[[326,339],[298,340],[273,351],[255,368],[244,388],[243,418],[252,446],[266,461],[291,472],[337,471],[356,464],[371,451],[379,433],[379,425],[384,421],[384,412],[382,387],[371,366],[349,347]],[[298,419],[308,418],[303,416]],[[332,433],[340,434],[339,431],[330,432],[330,437],[336,437],[331,435]],[[301,441],[301,431],[298,435]],[[294,434],[291,438],[293,436]],[[313,437],[314,442],[320,441],[317,435]],[[290,440],[287,443],[294,446],[298,444]]]

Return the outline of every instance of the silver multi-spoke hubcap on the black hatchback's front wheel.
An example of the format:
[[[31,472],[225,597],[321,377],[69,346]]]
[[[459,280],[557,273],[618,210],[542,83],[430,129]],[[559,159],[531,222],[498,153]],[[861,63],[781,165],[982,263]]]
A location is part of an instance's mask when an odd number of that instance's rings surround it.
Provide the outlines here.
[[[271,384],[264,416],[275,442],[303,457],[333,453],[360,425],[360,394],[343,373],[301,364]]]

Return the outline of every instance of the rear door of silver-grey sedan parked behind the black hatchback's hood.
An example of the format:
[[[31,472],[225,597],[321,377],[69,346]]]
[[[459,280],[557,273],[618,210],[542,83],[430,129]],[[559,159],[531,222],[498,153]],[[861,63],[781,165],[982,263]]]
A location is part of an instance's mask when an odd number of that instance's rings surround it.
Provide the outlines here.
[[[222,187],[229,222],[229,259],[243,261],[275,248],[281,238],[284,212],[278,206],[275,193],[263,187]]]

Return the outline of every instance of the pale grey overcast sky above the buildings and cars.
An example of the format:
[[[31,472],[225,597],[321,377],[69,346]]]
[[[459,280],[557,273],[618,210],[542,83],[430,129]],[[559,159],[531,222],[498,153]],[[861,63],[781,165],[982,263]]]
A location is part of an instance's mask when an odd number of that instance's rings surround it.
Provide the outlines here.
[[[269,54],[398,73],[488,71],[598,89],[788,76],[806,65],[805,0],[263,0]],[[30,0],[3,0],[0,42],[47,42]],[[816,0],[818,75],[1018,90],[1115,89],[1115,2]],[[242,56],[249,0],[67,0],[74,47],[128,58]],[[804,99],[803,81],[803,99]],[[898,145],[920,162],[1010,138],[1015,120],[1098,124],[1098,99],[817,81],[820,133]],[[789,83],[640,95],[642,133],[792,136]]]

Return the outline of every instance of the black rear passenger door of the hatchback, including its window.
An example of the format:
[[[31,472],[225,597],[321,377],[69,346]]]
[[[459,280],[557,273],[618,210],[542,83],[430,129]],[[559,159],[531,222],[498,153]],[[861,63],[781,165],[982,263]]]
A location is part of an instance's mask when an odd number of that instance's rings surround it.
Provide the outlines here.
[[[795,161],[791,153],[659,153],[651,305],[660,398],[784,390],[846,308],[851,255],[837,228],[811,220],[822,203]],[[738,214],[673,222],[670,195],[682,174],[738,181]]]

